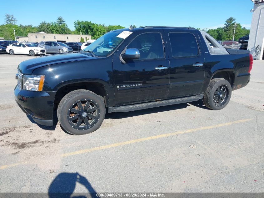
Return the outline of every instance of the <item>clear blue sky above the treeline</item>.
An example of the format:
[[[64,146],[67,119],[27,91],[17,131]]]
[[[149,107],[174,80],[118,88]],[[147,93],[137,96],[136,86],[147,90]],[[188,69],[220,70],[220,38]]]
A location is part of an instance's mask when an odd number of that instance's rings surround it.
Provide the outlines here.
[[[124,27],[135,24],[216,28],[223,26],[229,17],[250,26],[253,3],[250,0],[13,0],[1,1],[1,8],[0,24],[4,24],[4,14],[8,13],[17,18],[17,24],[33,26],[62,16],[71,30],[76,20]]]

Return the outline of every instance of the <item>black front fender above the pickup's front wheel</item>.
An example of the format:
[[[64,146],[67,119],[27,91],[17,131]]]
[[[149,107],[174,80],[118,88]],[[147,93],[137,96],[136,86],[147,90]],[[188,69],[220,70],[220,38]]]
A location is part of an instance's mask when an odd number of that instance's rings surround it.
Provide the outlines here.
[[[114,99],[110,57],[47,65],[35,69],[32,74],[45,74],[43,91],[56,92],[69,84],[96,82],[105,87],[109,99]]]

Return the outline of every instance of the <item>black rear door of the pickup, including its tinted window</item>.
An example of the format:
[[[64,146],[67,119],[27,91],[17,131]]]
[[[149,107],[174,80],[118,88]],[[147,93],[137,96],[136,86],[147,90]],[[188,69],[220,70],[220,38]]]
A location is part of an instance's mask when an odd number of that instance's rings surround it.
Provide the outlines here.
[[[205,58],[202,44],[194,30],[166,32],[170,59],[169,98],[201,94],[204,81]]]

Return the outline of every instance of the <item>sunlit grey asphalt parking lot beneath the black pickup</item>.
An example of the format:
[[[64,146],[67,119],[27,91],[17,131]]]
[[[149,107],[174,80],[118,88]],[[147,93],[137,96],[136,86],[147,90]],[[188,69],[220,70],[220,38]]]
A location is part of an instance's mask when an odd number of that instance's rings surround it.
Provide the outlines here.
[[[15,103],[17,65],[30,58],[0,54],[0,192],[264,192],[264,61],[222,110],[198,101],[112,113],[74,136]]]

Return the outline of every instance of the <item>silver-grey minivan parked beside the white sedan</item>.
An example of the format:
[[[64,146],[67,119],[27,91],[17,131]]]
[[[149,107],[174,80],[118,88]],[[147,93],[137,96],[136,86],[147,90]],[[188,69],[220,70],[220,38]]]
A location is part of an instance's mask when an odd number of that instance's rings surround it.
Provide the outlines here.
[[[38,47],[44,48],[47,53],[66,53],[73,52],[72,48],[61,42],[41,41]]]

